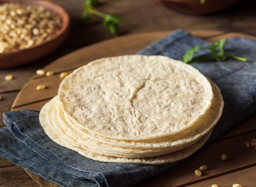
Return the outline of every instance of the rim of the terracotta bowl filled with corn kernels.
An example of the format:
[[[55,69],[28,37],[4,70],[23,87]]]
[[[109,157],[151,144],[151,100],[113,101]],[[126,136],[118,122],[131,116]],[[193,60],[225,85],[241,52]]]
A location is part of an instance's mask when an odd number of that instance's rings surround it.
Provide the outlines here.
[[[24,3],[24,2],[28,2],[28,3]],[[29,2],[32,2],[32,0],[22,0],[22,1],[17,1],[17,2],[8,1],[8,0],[0,0],[0,5],[4,4],[4,3],[19,3],[22,5],[42,6],[45,9],[50,10],[60,16],[60,18],[62,20],[62,26],[61,26],[60,30],[56,34],[54,34],[54,36],[52,36],[50,39],[45,40],[44,42],[42,42],[40,44],[36,44],[36,45],[30,46],[29,48],[25,48],[25,49],[16,49],[13,51],[2,52],[2,53],[0,53],[0,56],[16,54],[19,52],[29,51],[34,48],[38,48],[40,46],[44,46],[45,44],[53,42],[54,40],[59,38],[64,32],[66,32],[68,30],[68,28],[70,26],[70,16],[69,16],[68,12],[62,6],[60,6],[54,2],[51,2],[49,0],[34,0],[33,1],[34,4],[30,4]],[[40,2],[45,2],[46,4],[51,5],[52,9],[46,7],[45,4],[42,4]],[[60,9],[60,10],[58,10],[58,9]],[[63,14],[61,14],[60,12],[63,12]]]

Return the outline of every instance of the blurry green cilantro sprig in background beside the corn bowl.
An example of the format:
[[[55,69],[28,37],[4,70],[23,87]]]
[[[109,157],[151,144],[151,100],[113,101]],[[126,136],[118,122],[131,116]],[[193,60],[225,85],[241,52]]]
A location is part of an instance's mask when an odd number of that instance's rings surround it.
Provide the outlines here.
[[[104,14],[102,12],[99,12],[98,10],[95,10],[94,7],[99,4],[99,0],[85,0],[83,4],[83,14],[82,14],[82,20],[80,20],[80,24],[87,23],[90,18],[91,14],[94,14],[96,16],[99,16],[103,18],[102,25],[108,28],[108,30],[113,34],[118,34],[119,32],[119,25],[118,23],[121,21],[121,18],[116,16],[115,14]]]

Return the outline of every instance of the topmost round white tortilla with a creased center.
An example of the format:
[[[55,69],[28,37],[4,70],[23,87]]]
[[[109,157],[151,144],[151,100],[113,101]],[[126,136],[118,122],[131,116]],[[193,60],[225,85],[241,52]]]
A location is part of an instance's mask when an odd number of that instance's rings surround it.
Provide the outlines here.
[[[164,56],[103,58],[67,76],[58,91],[67,118],[111,139],[164,137],[192,126],[214,97],[195,68]]]

